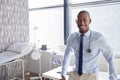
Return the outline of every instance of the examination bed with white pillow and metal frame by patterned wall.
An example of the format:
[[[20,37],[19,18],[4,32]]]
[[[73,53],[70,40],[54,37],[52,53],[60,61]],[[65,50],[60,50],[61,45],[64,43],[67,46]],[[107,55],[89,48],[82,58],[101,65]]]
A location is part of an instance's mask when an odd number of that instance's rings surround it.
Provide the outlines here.
[[[31,53],[33,46],[25,42],[15,42],[10,45],[4,52],[0,53],[0,66],[15,62],[22,63],[22,76],[24,80],[24,60],[22,57]],[[12,79],[11,79],[12,80]]]

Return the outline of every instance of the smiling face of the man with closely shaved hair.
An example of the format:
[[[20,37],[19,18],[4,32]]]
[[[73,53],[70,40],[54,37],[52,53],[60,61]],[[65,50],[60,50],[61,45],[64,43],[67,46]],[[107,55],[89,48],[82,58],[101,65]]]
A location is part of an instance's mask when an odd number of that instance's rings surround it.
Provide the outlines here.
[[[85,33],[89,30],[89,24],[91,23],[90,16],[87,13],[81,13],[77,17],[77,26],[80,33]]]

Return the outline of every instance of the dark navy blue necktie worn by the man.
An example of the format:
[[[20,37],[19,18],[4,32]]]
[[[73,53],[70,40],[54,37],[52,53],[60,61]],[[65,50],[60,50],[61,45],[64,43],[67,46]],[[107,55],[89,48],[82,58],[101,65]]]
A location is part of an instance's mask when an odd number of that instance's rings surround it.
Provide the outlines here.
[[[78,74],[82,75],[82,62],[83,62],[83,36],[80,35],[80,47],[79,47],[79,65],[78,65]]]

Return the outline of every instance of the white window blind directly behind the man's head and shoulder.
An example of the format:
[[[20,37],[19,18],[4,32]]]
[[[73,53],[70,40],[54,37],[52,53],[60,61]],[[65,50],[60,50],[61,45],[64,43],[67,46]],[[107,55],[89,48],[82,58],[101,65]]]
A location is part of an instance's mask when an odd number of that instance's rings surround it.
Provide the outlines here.
[[[101,32],[115,51],[120,51],[120,2],[72,7],[71,32],[78,31],[75,23],[79,11],[90,12],[92,30]]]

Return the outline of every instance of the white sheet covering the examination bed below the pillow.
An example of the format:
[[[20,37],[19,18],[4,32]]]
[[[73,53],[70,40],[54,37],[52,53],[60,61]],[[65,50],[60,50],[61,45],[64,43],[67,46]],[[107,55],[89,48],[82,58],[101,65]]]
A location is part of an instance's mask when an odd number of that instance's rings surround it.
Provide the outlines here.
[[[9,61],[12,61],[12,60],[21,58],[21,57],[29,54],[32,50],[33,50],[33,48],[31,47],[24,53],[15,53],[15,52],[11,52],[11,51],[2,52],[2,53],[0,53],[0,65],[7,63]]]

